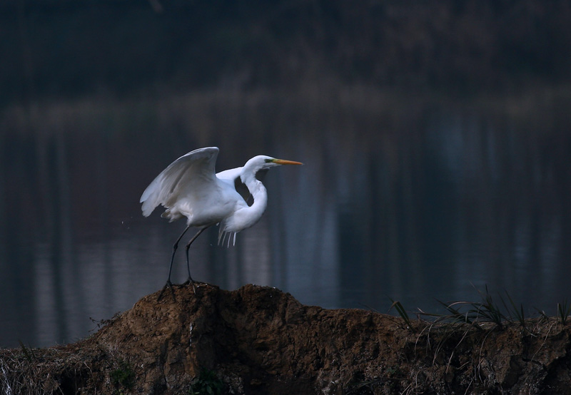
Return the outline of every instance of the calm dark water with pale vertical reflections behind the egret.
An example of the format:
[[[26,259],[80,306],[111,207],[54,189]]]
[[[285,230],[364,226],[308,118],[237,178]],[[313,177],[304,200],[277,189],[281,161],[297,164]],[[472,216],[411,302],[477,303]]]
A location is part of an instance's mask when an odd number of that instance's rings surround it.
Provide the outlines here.
[[[191,249],[193,277],[304,304],[442,312],[507,291],[526,314],[569,297],[566,91],[453,101],[363,86],[155,93],[5,108],[0,118],[0,346],[73,342],[163,287],[183,221],[138,200],[178,156],[221,148],[268,173],[261,222]],[[546,93],[547,92],[547,93]],[[191,237],[189,234],[188,237]],[[183,253],[175,282],[186,279]]]

